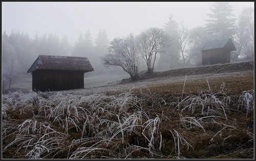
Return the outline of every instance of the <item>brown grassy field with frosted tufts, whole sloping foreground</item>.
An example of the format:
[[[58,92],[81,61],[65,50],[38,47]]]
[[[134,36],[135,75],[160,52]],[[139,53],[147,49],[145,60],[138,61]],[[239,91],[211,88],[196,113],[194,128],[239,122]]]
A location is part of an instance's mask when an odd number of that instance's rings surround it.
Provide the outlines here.
[[[2,158],[254,158],[254,61],[2,95]]]

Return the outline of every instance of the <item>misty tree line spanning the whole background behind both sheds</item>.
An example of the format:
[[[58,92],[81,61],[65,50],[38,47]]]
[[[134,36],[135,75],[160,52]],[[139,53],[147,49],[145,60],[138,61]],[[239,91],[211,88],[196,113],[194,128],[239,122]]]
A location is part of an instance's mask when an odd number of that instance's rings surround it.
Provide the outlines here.
[[[105,30],[100,30],[95,40],[91,33],[80,33],[74,46],[67,37],[59,41],[50,33],[33,38],[28,34],[12,32],[2,34],[2,85],[11,86],[16,76],[26,73],[38,55],[88,57],[94,73],[108,72],[105,67],[120,66],[133,80],[138,72],[170,70],[186,65],[201,65],[201,47],[206,41],[230,37],[237,51],[231,52],[231,61],[254,58],[254,10],[245,8],[236,18],[229,3],[213,3],[207,14],[205,26],[188,29],[179,24],[172,14],[163,28],[148,28],[139,35],[132,32],[124,37],[108,40]],[[23,69],[23,70],[21,70]],[[26,69],[26,70],[24,70]],[[8,85],[9,84],[9,85]]]

